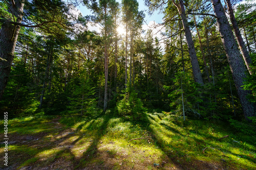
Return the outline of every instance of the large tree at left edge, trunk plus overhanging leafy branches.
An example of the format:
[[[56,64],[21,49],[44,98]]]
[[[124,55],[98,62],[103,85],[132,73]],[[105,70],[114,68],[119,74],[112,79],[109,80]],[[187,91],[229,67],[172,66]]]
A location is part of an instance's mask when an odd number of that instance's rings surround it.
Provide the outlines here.
[[[24,5],[26,3],[26,9]],[[1,7],[2,8],[2,7]],[[40,28],[50,34],[73,25],[67,17],[69,8],[60,0],[57,1],[5,1],[0,23],[0,100],[3,96],[14,58],[15,45],[21,27]],[[8,11],[8,12],[6,12]],[[69,13],[70,16],[72,14]]]

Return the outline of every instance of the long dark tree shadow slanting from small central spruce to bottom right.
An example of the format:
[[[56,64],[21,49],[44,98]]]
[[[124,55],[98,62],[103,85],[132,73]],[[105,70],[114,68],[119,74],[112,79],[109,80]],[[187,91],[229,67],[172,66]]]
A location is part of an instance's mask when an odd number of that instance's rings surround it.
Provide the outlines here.
[[[157,116],[157,115],[156,115]],[[160,119],[160,118],[159,118]],[[161,118],[162,119],[162,118]],[[161,120],[160,119],[160,120]],[[151,120],[154,120],[155,123],[159,124],[163,128],[172,131],[174,135],[179,135],[179,136],[186,136],[185,134],[182,134],[179,132],[177,129],[174,129],[164,123],[158,123],[157,119],[154,118],[150,114],[145,114],[142,120],[138,120],[136,122],[131,122],[134,126],[139,125],[143,130],[146,130],[152,134],[153,140],[157,148],[159,148],[161,151],[164,152],[164,154],[167,156],[166,158],[162,158],[162,162],[171,162],[171,164],[176,168],[176,169],[215,169],[215,168],[225,168],[226,165],[223,162],[218,162],[218,163],[209,163],[207,161],[203,160],[197,160],[195,158],[189,158],[186,153],[186,151],[182,150],[180,147],[177,147],[175,143],[166,143],[166,141],[161,137],[161,134],[164,134],[164,132],[161,132],[159,129],[155,129],[154,125],[152,124]],[[153,125],[153,126],[148,126],[148,125]],[[179,128],[183,128],[182,125],[177,124]],[[202,135],[202,134],[201,134]],[[201,144],[201,140],[195,139],[195,141]],[[193,167],[191,167],[191,163],[193,162]],[[163,168],[167,168],[164,166],[164,163],[162,163]]]

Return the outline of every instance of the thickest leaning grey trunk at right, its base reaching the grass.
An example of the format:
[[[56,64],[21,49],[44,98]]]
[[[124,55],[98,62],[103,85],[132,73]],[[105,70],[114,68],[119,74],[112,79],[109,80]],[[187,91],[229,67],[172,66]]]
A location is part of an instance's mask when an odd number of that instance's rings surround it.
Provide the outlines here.
[[[220,0],[211,0],[215,15],[218,17],[217,24],[219,27],[221,40],[224,45],[224,50],[227,55],[229,67],[232,72],[234,84],[236,85],[239,99],[243,108],[245,118],[254,116],[254,106],[248,101],[246,95],[250,93],[248,90],[243,90],[243,80],[246,78],[246,68],[243,59],[240,57],[240,52],[236,40],[234,39],[229,22],[225,15]]]

